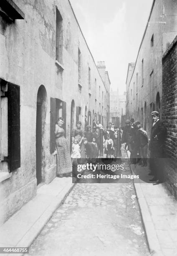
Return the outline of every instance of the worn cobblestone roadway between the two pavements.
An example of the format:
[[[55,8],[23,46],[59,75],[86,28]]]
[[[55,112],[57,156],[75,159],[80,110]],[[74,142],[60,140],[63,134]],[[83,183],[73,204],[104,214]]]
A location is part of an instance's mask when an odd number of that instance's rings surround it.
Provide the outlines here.
[[[73,256],[149,255],[132,183],[76,184],[29,250],[35,256],[71,251]]]

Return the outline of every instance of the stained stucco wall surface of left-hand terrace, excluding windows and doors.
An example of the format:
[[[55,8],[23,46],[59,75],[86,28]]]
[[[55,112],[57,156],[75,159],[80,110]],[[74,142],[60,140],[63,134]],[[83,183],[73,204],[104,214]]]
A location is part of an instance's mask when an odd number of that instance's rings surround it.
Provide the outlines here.
[[[68,0],[14,2],[25,14],[25,19],[15,20],[8,24],[4,33],[0,33],[0,78],[20,85],[21,166],[12,177],[0,183],[0,223],[36,193],[36,102],[40,85],[43,84],[47,95],[43,125],[43,182],[48,170],[52,168],[52,172],[56,172],[56,159],[50,154],[50,98],[66,102],[66,138],[70,143],[71,101],[74,100],[75,107],[81,107],[84,125],[85,106],[87,111],[100,113],[102,100],[101,96],[96,97],[99,86],[107,101],[109,94],[109,86],[106,90]],[[63,18],[63,71],[55,63],[56,5]],[[81,93],[78,91],[78,47],[81,51]],[[91,69],[90,109],[88,67]],[[104,102],[103,107],[102,115],[106,117]]]

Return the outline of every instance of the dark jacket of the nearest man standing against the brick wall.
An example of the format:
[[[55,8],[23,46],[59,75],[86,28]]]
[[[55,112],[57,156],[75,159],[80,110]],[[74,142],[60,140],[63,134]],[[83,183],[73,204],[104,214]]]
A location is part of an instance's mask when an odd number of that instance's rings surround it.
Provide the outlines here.
[[[157,138],[155,138],[157,136]],[[149,143],[150,151],[158,151],[160,147],[163,146],[165,137],[167,136],[167,130],[164,127],[163,123],[157,121],[151,128],[151,138]]]

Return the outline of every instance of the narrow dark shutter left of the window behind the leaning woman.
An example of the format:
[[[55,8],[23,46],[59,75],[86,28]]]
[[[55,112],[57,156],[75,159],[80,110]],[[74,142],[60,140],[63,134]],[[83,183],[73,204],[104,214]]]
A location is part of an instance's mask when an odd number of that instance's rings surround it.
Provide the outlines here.
[[[55,145],[56,145],[55,125],[56,125],[56,99],[51,98],[51,139],[50,139],[51,153],[55,151]]]

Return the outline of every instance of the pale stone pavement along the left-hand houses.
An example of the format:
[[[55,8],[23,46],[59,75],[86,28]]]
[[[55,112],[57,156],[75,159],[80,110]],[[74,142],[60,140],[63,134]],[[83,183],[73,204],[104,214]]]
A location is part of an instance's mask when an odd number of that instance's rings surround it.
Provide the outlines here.
[[[71,177],[56,177],[39,187],[37,195],[0,227],[0,247],[30,246],[73,185]]]

